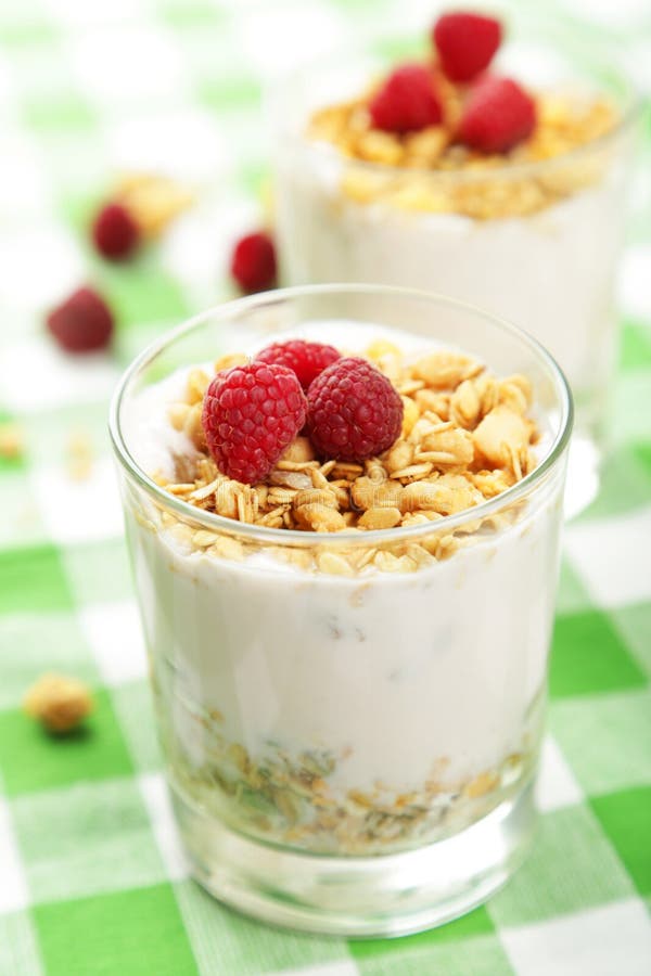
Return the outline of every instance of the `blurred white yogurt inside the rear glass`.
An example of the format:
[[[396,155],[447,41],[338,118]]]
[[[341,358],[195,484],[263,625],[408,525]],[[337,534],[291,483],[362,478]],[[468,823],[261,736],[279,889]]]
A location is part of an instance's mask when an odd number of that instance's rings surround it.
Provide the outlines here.
[[[526,217],[424,214],[341,191],[332,151],[284,153],[278,233],[289,284],[370,282],[441,292],[502,316],[558,359],[579,407],[598,413],[613,364],[621,167]]]

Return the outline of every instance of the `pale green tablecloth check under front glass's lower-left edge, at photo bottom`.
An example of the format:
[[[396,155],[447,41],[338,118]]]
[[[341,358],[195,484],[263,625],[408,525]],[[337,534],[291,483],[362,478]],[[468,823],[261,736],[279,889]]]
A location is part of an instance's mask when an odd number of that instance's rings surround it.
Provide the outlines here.
[[[192,881],[175,885],[176,896],[202,973],[261,976],[347,959],[343,939],[282,932],[224,908]]]

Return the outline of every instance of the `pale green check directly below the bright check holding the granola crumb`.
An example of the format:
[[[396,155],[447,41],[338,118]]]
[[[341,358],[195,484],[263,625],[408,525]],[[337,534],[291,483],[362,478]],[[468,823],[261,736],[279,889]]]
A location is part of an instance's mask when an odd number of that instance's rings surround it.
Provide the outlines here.
[[[151,823],[131,778],[34,793],[14,799],[11,808],[33,902],[165,881]]]

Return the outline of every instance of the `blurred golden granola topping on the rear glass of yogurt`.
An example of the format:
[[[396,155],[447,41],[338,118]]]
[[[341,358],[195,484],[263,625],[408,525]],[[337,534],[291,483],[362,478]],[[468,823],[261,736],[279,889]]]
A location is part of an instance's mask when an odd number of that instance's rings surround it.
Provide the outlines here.
[[[578,102],[558,94],[536,94],[537,124],[532,136],[509,153],[486,155],[455,141],[462,88],[444,78],[439,88],[444,124],[416,132],[374,129],[368,110],[370,94],[327,106],[311,117],[310,140],[332,143],[350,160],[380,164],[346,167],[341,184],[345,196],[360,204],[382,201],[404,210],[486,220],[535,214],[602,176],[603,154],[561,157],[614,128],[617,113],[605,98]],[[545,171],[508,172],[509,167],[548,159],[557,162]],[[457,174],[467,178],[446,179]]]

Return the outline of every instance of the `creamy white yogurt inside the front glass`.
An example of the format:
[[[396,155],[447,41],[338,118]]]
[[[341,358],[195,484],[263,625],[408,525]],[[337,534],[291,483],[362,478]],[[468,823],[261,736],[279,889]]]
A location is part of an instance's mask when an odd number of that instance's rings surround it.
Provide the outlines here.
[[[346,337],[352,345],[354,330]],[[151,475],[192,450],[163,421],[184,376],[142,393],[125,418],[127,446]],[[355,578],[297,569],[259,550],[242,562],[206,555],[179,541],[151,503],[127,502],[173,781],[209,804],[206,769],[224,743],[253,762],[278,749],[292,760],[332,757],[328,788],[342,804],[378,783],[392,797],[420,794],[434,779],[457,796],[484,773],[497,783],[514,754],[528,774],[561,491],[557,474],[503,530],[430,568]]]

